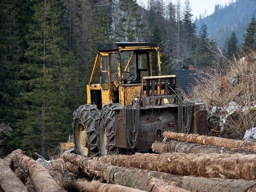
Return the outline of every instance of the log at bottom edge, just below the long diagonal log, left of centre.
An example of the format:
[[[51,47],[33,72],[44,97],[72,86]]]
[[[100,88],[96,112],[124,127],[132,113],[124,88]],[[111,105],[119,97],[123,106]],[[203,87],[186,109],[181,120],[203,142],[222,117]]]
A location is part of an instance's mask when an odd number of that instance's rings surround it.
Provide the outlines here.
[[[117,184],[106,184],[101,183],[99,181],[88,181],[85,178],[77,179],[75,176],[72,177],[72,179],[65,180],[64,181],[64,187],[68,191],[80,191],[80,192],[98,192],[98,191],[104,191],[104,192],[143,192],[138,189],[133,189],[129,187],[124,187]]]

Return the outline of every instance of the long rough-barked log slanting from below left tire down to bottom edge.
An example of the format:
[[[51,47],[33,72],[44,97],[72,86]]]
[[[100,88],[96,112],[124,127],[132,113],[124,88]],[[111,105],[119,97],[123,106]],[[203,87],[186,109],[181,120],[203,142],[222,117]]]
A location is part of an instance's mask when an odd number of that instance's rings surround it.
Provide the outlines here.
[[[108,165],[73,153],[63,153],[66,161],[80,166],[89,177],[100,177],[111,184],[120,184],[144,191],[186,191],[160,179],[141,174],[135,170]]]

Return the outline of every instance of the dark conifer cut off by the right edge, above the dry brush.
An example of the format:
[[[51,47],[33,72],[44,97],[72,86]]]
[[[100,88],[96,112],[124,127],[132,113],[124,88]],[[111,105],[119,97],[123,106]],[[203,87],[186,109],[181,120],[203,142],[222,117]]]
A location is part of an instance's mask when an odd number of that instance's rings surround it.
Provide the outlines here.
[[[256,20],[252,17],[251,22],[246,28],[244,42],[242,44],[244,51],[256,50]]]

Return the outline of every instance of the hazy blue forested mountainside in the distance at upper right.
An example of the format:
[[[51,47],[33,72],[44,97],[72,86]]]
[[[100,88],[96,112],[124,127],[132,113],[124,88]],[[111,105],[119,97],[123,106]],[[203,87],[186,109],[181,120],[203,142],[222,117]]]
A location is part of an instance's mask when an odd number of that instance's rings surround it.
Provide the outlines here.
[[[213,14],[195,20],[197,29],[205,22],[208,27],[209,38],[223,47],[225,39],[235,32],[239,45],[243,41],[247,25],[256,16],[255,0],[237,0],[225,5],[215,5]]]

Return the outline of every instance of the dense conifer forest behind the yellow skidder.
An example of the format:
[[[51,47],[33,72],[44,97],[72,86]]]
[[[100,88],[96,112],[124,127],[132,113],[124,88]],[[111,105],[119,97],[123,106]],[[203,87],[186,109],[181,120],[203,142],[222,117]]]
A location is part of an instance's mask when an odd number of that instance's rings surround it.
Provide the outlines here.
[[[0,6],[0,123],[2,154],[22,149],[50,158],[72,134],[73,111],[86,104],[99,44],[159,42],[162,74],[193,65],[202,70],[256,49],[256,21],[238,45],[232,32],[224,47],[196,26],[190,1],[2,0]],[[198,33],[196,29],[199,29]]]

